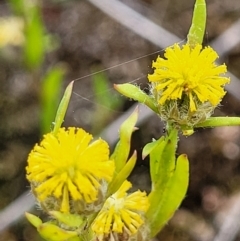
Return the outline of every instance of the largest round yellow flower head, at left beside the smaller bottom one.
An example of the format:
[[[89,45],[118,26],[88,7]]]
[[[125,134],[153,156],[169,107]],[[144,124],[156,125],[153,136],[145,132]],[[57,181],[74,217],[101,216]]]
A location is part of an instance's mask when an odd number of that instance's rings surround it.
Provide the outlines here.
[[[49,133],[34,147],[28,157],[27,179],[41,204],[69,212],[73,202],[97,200],[115,166],[109,160],[108,144],[91,140],[83,129],[61,128],[56,136]]]

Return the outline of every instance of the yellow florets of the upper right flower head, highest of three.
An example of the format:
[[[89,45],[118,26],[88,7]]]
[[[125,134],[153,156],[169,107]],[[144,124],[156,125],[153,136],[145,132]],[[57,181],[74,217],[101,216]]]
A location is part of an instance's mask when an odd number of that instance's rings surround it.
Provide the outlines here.
[[[220,103],[229,78],[221,76],[227,71],[226,65],[215,64],[218,55],[211,47],[196,45],[191,49],[188,44],[182,48],[175,44],[166,49],[164,56],[166,59],[158,57],[153,62],[154,73],[148,75],[160,105],[187,97],[193,113],[198,103],[210,102],[214,107]]]

